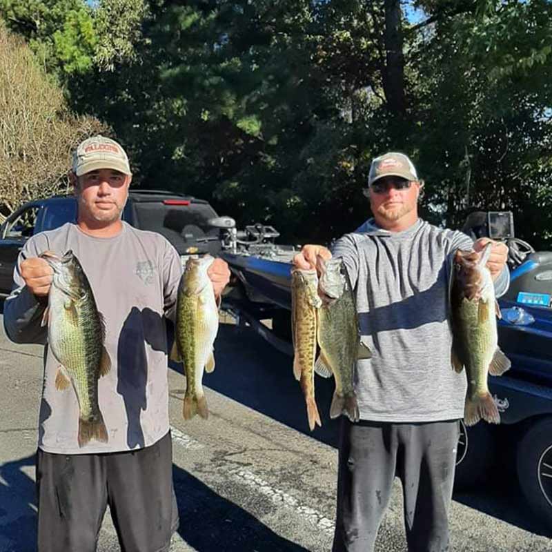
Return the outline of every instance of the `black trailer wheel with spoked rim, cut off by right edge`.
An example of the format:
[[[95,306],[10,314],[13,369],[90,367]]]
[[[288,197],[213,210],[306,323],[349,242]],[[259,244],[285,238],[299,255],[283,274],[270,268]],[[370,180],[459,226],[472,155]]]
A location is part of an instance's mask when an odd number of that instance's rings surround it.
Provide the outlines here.
[[[517,478],[531,509],[552,525],[552,417],[535,422],[517,446]]]

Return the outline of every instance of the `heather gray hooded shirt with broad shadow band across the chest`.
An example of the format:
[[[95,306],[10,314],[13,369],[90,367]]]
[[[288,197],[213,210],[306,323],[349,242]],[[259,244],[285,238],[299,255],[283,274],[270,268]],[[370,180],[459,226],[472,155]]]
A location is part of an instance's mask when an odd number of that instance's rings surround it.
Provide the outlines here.
[[[461,232],[422,219],[403,232],[366,221],[333,247],[355,288],[360,333],[373,357],[357,364],[362,420],[435,422],[464,415],[466,374],[451,367],[449,270]],[[505,268],[495,282],[506,292]]]

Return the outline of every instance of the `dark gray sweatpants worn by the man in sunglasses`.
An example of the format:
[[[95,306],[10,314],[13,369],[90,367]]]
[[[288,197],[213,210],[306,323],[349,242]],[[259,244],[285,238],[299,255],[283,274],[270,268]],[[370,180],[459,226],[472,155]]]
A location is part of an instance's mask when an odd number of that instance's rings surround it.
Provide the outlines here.
[[[373,551],[400,477],[409,552],[449,551],[457,420],[428,424],[342,419],[333,552]]]

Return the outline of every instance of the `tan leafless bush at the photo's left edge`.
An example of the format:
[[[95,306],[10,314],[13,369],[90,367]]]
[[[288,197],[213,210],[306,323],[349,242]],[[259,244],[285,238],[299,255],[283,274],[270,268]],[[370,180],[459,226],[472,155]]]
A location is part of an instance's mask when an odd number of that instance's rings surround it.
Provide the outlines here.
[[[70,151],[107,129],[75,117],[30,48],[0,21],[0,215],[68,189]]]

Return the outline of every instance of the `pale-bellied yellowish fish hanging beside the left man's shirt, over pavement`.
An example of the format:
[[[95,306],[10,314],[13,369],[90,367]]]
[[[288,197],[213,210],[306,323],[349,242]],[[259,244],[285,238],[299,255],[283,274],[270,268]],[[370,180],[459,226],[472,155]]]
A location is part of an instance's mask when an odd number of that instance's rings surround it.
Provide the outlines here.
[[[178,288],[175,343],[170,357],[175,362],[184,362],[184,420],[196,414],[205,419],[209,416],[201,380],[204,370],[215,369],[213,344],[219,331],[219,309],[207,275],[214,260],[210,255],[188,259]]]

